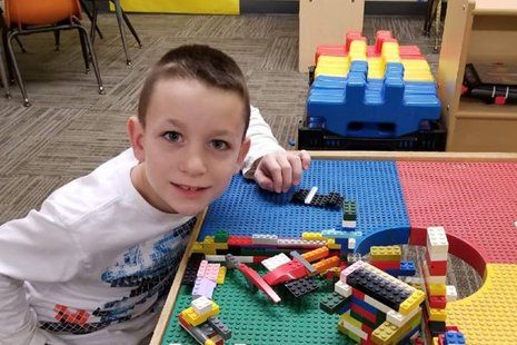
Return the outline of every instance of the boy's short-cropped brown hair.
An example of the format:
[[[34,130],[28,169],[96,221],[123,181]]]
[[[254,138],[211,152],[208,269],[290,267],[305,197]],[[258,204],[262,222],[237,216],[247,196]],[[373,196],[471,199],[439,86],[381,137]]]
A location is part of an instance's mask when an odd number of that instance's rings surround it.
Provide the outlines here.
[[[146,114],[155,86],[163,79],[193,79],[206,86],[237,92],[245,102],[245,132],[250,105],[245,76],[228,55],[209,46],[188,45],[169,50],[151,69],[138,102],[138,120],[145,127]]]

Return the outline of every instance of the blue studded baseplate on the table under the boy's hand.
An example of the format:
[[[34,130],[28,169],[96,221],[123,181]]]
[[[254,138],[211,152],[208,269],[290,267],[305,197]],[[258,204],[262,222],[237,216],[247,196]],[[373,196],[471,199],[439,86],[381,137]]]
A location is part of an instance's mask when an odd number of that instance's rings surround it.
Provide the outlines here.
[[[290,203],[299,188],[318,186],[318,194],[337,191],[356,200],[357,252],[372,245],[406,244],[409,237],[402,189],[394,161],[314,160],[298,187],[286,194],[260,189],[242,176],[209,208],[199,238],[226,229],[230,235],[274,234],[301,237],[304,231],[340,229],[341,208],[326,209]]]

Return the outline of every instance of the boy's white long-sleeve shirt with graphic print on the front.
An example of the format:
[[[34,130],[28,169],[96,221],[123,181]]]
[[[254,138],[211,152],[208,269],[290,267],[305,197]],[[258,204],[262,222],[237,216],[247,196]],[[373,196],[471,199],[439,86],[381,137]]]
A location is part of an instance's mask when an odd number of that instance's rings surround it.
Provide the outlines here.
[[[255,159],[281,149],[258,109]],[[131,149],[0,227],[0,344],[138,344],[152,332],[195,218],[135,189]]]

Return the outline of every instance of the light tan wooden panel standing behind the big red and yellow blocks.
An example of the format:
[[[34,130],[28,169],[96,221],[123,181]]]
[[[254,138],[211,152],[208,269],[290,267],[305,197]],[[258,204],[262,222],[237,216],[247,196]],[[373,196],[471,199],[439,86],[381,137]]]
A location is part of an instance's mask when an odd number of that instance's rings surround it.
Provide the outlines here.
[[[319,45],[345,45],[348,30],[362,31],[365,0],[300,0],[298,69],[315,65]]]

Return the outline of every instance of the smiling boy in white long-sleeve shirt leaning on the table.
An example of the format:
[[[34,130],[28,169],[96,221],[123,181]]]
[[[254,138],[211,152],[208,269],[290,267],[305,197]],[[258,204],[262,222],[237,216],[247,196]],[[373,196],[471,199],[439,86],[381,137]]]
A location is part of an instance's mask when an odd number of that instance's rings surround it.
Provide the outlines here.
[[[193,216],[242,164],[276,191],[308,168],[307,152],[279,149],[251,112],[231,58],[206,46],[169,51],[128,121],[132,150],[0,227],[0,343],[138,344],[149,335]]]

